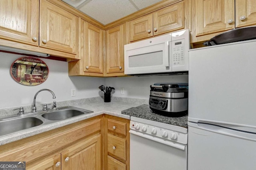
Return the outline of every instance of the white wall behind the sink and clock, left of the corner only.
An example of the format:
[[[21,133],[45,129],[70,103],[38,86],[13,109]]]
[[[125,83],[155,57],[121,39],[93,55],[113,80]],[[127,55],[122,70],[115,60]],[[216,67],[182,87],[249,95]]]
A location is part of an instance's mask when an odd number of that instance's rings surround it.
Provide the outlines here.
[[[52,99],[50,92],[42,91],[36,97],[36,104],[97,97],[98,86],[105,83],[105,78],[68,76],[68,62],[40,58],[49,68],[47,80],[37,86],[24,86],[10,75],[11,64],[23,56],[0,52],[0,109],[32,105],[34,95],[43,88],[52,90],[56,99]],[[71,97],[71,89],[76,89],[75,97]]]

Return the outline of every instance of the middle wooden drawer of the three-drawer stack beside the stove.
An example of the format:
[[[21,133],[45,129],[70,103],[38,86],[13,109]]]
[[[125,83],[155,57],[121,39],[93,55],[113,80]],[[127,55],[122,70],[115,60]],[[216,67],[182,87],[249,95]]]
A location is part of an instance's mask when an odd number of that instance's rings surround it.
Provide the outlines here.
[[[108,133],[108,152],[126,160],[126,140]]]

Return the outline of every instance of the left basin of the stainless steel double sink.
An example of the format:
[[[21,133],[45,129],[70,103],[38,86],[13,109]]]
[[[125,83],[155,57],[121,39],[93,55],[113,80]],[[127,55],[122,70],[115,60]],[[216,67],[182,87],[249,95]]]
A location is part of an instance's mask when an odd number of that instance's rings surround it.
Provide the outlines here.
[[[21,117],[0,122],[0,136],[41,125],[43,121],[36,117]]]

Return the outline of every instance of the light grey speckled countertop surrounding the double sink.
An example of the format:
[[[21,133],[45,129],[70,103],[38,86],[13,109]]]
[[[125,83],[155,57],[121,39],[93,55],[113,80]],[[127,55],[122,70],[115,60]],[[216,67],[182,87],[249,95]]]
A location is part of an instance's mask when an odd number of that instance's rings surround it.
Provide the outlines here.
[[[129,115],[123,115],[121,114],[121,111],[128,109],[130,107],[140,106],[147,102],[148,100],[131,99],[131,98],[111,98],[111,102],[105,103],[104,100],[100,97],[74,100],[74,101],[68,101],[68,102],[57,102],[57,107],[74,106],[74,107],[79,107],[81,109],[93,111],[93,113],[89,113],[86,115],[79,115],[76,117],[68,118],[62,121],[57,121],[57,122],[43,125],[40,127],[33,127],[24,131],[12,133],[10,135],[4,135],[0,137],[0,145],[18,141],[26,137],[37,135],[46,131],[50,131],[52,129],[56,129],[58,127],[69,125],[71,123],[82,121],[84,119],[95,117],[104,113],[108,115],[122,117],[125,119],[130,119]],[[31,108],[31,106],[29,106],[28,108]],[[2,115],[6,115],[8,114],[8,111],[10,112],[11,110],[13,109],[2,109],[0,111],[0,115],[1,113],[3,113]],[[26,113],[26,110],[25,110],[25,113]]]

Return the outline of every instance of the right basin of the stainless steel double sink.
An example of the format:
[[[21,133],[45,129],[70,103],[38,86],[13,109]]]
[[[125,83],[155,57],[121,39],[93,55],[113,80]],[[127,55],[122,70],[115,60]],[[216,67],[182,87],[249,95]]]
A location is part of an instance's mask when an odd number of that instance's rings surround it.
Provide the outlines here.
[[[92,113],[90,111],[80,111],[76,109],[64,109],[64,110],[58,110],[58,111],[53,111],[49,113],[44,113],[42,117],[48,120],[64,120],[69,117],[74,117],[78,115],[83,115],[86,113]]]

